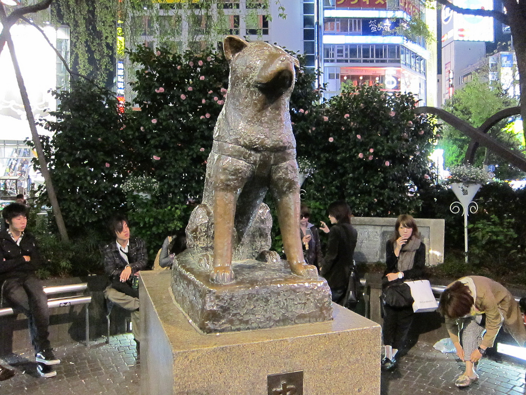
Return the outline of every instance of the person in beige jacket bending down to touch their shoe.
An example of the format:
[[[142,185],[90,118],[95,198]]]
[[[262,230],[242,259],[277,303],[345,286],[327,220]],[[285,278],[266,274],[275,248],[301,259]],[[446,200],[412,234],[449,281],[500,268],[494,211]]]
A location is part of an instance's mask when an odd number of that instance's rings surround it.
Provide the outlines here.
[[[468,387],[479,379],[477,364],[502,326],[521,347],[526,342],[519,304],[510,291],[489,278],[472,275],[449,284],[438,311],[446,319],[457,355],[466,362],[466,370],[455,381],[457,387]]]

